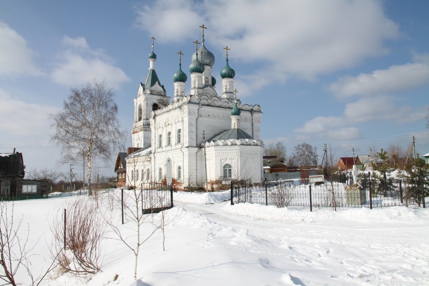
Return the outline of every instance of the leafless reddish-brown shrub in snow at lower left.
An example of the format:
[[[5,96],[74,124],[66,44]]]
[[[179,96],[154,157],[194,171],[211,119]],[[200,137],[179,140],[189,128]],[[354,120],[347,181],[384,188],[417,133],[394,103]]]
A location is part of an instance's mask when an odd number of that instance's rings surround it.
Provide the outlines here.
[[[66,219],[59,211],[52,227],[55,249],[61,253],[58,262],[75,275],[96,273],[101,269],[101,239],[105,233],[99,211],[86,198],[72,201],[66,210]]]

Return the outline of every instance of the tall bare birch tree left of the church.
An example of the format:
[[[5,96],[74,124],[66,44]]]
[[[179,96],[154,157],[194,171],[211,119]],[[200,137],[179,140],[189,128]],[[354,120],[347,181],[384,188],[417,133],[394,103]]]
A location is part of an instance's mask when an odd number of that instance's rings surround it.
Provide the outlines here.
[[[119,147],[125,137],[114,97],[115,92],[104,81],[93,80],[81,88],[71,88],[63,110],[49,116],[55,130],[51,140],[61,146],[63,162],[86,159],[90,190],[94,159],[110,159],[112,147]]]

